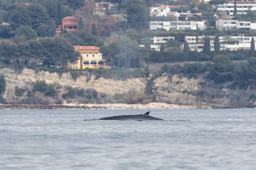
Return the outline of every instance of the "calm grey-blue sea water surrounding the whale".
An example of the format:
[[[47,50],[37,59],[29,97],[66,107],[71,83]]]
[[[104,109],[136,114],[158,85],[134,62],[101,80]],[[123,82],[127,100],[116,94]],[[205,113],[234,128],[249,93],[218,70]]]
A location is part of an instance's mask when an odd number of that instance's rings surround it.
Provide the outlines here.
[[[255,170],[256,110],[0,110],[0,169]]]

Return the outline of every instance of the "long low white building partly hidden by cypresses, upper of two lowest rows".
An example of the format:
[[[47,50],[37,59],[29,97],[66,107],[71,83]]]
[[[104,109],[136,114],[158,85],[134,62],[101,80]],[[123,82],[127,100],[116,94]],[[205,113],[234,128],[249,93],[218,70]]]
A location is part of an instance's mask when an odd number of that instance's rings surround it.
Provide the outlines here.
[[[198,36],[198,41],[202,41],[205,36]],[[214,43],[215,36],[209,36],[211,43]],[[256,37],[253,37],[256,40]],[[219,37],[220,42],[228,41],[227,37]],[[251,43],[252,37],[242,37],[242,36],[231,36],[229,37],[230,41],[239,41],[240,43]],[[185,42],[188,44],[195,44],[196,43],[196,36],[186,36]]]

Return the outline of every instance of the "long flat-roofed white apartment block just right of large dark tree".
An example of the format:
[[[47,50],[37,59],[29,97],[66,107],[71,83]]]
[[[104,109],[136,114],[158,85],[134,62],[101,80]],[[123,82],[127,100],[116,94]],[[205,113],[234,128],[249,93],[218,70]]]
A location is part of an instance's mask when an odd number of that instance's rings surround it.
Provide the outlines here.
[[[206,21],[151,21],[150,30],[196,30],[196,24],[198,30],[206,29]]]

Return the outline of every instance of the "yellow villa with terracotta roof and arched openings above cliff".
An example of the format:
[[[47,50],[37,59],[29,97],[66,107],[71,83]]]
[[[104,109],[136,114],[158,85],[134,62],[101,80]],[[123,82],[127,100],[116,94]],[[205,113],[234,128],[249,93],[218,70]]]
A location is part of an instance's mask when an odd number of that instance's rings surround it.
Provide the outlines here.
[[[80,52],[77,61],[68,62],[66,68],[70,69],[97,69],[106,68],[106,62],[99,52],[100,48],[96,46],[74,46],[75,50]]]

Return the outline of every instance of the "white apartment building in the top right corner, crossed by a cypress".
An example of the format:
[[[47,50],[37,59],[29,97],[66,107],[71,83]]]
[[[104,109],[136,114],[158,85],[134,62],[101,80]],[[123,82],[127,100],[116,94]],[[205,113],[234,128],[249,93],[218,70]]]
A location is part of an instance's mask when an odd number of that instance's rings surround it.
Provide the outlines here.
[[[217,12],[220,14],[227,14],[233,15],[234,13],[234,1],[231,1],[230,3],[226,3],[223,5],[219,5],[217,8]],[[247,10],[252,10],[256,12],[256,2],[253,1],[236,1],[236,10],[237,14],[246,14]]]

